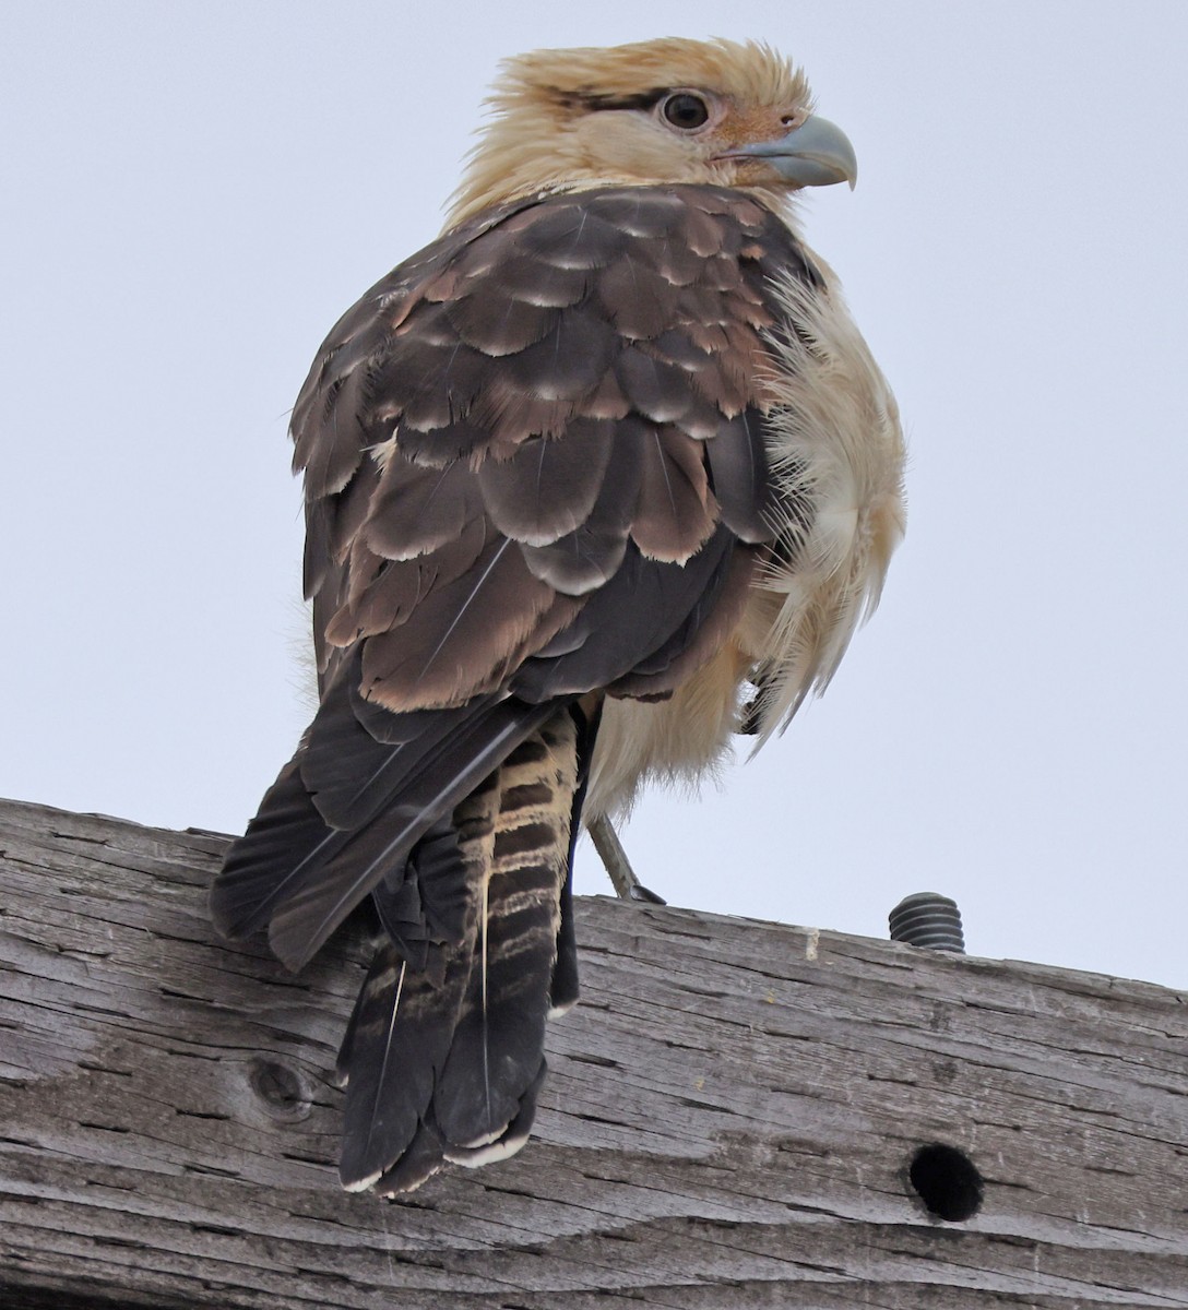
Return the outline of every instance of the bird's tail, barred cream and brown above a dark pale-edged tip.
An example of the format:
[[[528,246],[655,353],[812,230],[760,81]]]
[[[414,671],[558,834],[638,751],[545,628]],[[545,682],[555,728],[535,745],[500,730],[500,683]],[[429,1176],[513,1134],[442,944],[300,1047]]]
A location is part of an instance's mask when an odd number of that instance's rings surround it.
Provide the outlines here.
[[[411,1191],[528,1137],[545,1019],[576,1000],[570,866],[591,745],[559,709],[373,893],[385,933],[339,1055],[346,1188]],[[453,904],[427,905],[443,888]],[[427,920],[449,938],[418,937]]]

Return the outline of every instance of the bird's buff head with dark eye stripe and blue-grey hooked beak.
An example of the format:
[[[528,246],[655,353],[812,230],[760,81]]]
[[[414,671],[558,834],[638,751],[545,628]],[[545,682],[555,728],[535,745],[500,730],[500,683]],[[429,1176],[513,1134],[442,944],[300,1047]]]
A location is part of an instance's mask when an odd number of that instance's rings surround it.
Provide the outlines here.
[[[754,42],[538,50],[503,64],[489,105],[451,225],[542,191],[692,182],[778,199],[858,173],[804,75]]]

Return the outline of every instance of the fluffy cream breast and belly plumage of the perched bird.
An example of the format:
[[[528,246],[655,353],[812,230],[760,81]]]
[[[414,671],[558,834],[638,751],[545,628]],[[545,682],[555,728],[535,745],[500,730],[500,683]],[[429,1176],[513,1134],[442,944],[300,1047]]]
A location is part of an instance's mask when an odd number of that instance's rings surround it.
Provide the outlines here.
[[[608,702],[585,815],[627,810],[642,783],[696,783],[743,728],[761,744],[832,679],[878,604],[904,533],[895,397],[828,266],[770,262],[756,368],[770,544],[736,625],[664,701]]]

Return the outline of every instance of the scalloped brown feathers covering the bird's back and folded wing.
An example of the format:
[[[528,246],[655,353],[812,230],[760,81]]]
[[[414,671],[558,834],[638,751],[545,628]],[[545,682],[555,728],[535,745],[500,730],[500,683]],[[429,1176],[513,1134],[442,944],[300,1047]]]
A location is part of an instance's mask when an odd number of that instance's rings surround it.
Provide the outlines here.
[[[293,413],[324,668],[365,642],[375,694],[455,702],[612,579],[766,540],[777,271],[813,278],[753,198],[633,186],[479,215],[377,283]]]

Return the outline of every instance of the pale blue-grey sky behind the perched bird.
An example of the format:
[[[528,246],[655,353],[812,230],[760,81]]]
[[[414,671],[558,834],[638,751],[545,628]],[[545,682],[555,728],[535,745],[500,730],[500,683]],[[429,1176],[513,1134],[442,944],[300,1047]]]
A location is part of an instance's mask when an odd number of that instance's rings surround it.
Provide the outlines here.
[[[699,804],[669,901],[1188,988],[1188,4],[14,3],[0,12],[0,795],[240,832],[308,717],[287,411],[424,245],[503,55],[756,37],[910,447],[883,608]],[[578,888],[608,889],[593,850]]]

